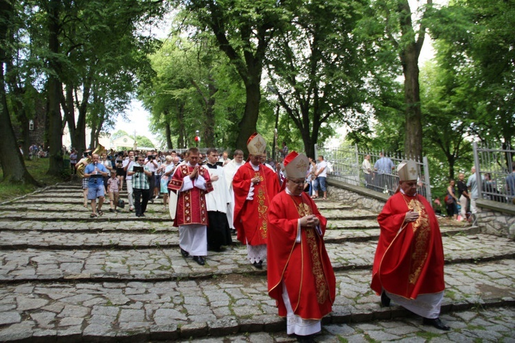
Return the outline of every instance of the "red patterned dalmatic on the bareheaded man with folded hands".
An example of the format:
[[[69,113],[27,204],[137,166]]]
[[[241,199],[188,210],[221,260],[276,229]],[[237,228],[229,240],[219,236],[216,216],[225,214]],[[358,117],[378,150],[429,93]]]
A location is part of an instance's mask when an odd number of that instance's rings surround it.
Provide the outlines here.
[[[179,191],[183,186],[184,178],[189,178],[194,167],[189,165],[179,165],[174,171],[172,180],[168,184],[168,189]],[[181,191],[177,198],[177,211],[174,220],[174,226],[187,224],[207,225],[207,209],[205,204],[205,193],[213,191],[209,172],[204,168],[198,169],[198,174],[205,180],[206,190],[193,187],[187,191]],[[195,180],[192,180],[193,184]]]

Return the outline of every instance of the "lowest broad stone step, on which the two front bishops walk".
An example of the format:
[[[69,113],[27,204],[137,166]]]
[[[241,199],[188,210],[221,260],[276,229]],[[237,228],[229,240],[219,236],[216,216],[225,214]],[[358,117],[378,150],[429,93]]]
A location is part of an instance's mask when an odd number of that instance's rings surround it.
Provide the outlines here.
[[[513,260],[447,265],[445,273],[442,314],[515,305]],[[381,307],[369,282],[369,270],[336,272],[337,295],[325,327],[413,318],[401,307]],[[0,304],[3,342],[173,341],[207,335],[209,342],[219,342],[234,333],[284,333],[286,328],[267,295],[266,277],[242,274],[178,282],[19,283],[3,286]],[[455,325],[457,332],[464,329],[459,320]],[[442,333],[425,330],[433,333],[428,337]]]

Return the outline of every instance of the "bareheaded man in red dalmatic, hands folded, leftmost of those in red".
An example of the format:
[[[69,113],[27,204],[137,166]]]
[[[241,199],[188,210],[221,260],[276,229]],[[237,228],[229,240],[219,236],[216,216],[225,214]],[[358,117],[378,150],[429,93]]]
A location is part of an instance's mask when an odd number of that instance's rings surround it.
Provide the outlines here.
[[[213,191],[207,169],[198,165],[198,149],[187,151],[187,162],[176,167],[168,189],[177,193],[174,226],[179,226],[183,257],[193,256],[200,265],[207,255],[207,208],[205,193]]]

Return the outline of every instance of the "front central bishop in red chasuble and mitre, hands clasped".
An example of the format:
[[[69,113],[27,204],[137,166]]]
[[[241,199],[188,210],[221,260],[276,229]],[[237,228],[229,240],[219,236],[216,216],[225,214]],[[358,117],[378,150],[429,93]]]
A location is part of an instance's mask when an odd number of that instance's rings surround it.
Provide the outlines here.
[[[323,242],[327,220],[304,193],[309,160],[291,152],[284,165],[286,189],[268,209],[268,294],[288,335],[310,342],[332,309],[336,279]]]

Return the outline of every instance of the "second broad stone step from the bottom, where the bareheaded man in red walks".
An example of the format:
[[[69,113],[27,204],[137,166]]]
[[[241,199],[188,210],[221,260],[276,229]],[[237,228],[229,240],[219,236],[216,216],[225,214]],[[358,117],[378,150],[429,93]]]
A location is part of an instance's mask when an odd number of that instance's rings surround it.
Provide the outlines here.
[[[14,239],[2,233],[2,241]],[[60,236],[66,236],[63,234]],[[48,246],[42,249],[7,250],[0,252],[0,283],[27,281],[159,281],[203,279],[226,274],[266,274],[256,270],[247,260],[247,248],[237,245],[225,252],[209,252],[206,265],[200,266],[191,257],[181,257],[177,238],[170,235],[94,235],[105,244],[98,250],[98,242],[84,239],[85,234],[71,234],[75,246],[63,250]],[[63,237],[66,239],[66,237]],[[56,237],[56,245],[59,238]],[[490,235],[444,237],[444,254],[447,264],[471,261],[515,259],[513,241]],[[26,242],[26,241],[25,241]],[[13,244],[16,244],[13,241]],[[23,243],[22,243],[23,244]],[[154,248],[137,249],[137,245],[154,244]],[[37,244],[36,244],[37,245]],[[334,270],[370,270],[374,262],[374,241],[345,241],[327,244],[328,255]],[[264,263],[266,267],[266,263]]]

